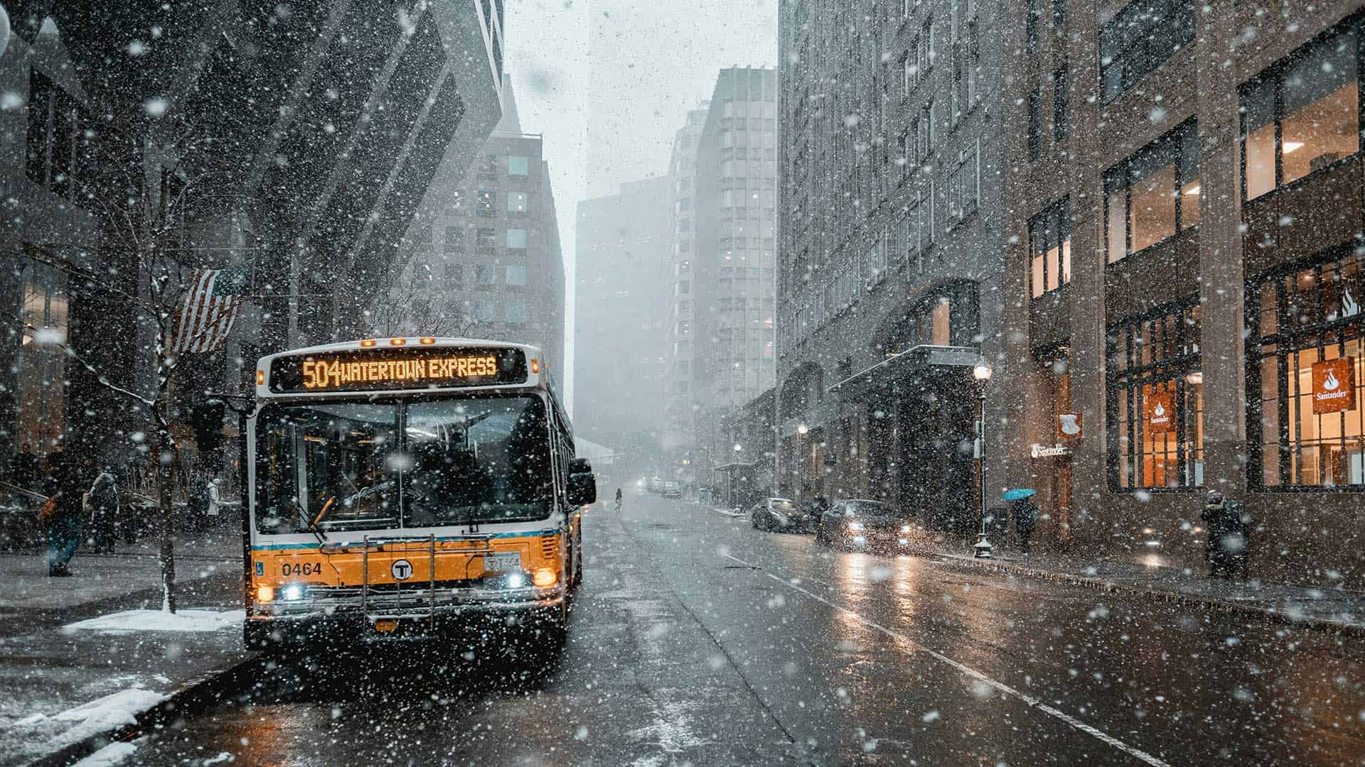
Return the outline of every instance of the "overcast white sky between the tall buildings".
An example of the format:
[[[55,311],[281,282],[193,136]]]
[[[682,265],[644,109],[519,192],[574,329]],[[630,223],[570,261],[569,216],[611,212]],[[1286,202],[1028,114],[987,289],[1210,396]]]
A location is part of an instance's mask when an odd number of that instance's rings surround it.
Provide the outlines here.
[[[580,199],[667,171],[673,134],[722,67],[777,64],[777,0],[506,0],[521,130],[545,134],[566,277],[572,408],[573,221]]]

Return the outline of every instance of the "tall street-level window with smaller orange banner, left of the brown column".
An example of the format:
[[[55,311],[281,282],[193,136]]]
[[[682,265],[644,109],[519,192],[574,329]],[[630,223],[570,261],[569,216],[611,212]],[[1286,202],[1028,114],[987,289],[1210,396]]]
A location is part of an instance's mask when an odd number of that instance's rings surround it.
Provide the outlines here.
[[[1198,337],[1197,303],[1110,328],[1106,420],[1111,489],[1204,484]]]

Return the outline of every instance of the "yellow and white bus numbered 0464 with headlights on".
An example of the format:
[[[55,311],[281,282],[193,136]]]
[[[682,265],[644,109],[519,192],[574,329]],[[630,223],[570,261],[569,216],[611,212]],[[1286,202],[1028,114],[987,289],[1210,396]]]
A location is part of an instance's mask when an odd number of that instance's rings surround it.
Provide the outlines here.
[[[539,349],[371,338],[262,358],[244,419],[248,647],[562,640],[587,460]]]

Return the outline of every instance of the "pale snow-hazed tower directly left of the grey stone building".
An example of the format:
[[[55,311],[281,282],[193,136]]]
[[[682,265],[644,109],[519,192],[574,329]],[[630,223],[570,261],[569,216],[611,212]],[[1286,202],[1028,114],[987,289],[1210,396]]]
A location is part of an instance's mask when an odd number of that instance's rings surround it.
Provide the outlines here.
[[[674,229],[692,228],[695,258],[672,277],[674,295],[692,296],[691,319],[673,322],[670,364],[692,375],[688,465],[706,482],[706,469],[732,461],[721,418],[773,386],[777,71],[721,70],[693,188],[693,216],[678,212]]]

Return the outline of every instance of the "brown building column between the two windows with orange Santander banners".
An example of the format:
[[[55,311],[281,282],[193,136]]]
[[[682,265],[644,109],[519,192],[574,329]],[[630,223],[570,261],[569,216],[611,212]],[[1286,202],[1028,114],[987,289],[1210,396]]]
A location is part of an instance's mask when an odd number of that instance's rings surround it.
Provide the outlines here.
[[[1242,341],[1241,143],[1235,70],[1227,67],[1237,37],[1233,0],[1212,0],[1200,15],[1200,183],[1204,216],[1198,232],[1200,351],[1204,370],[1204,487],[1233,497],[1246,493],[1246,351]]]

